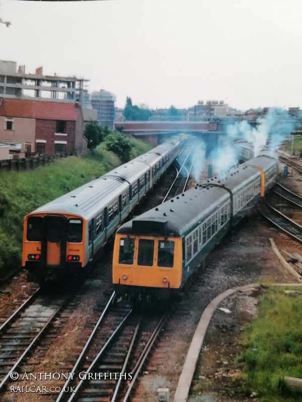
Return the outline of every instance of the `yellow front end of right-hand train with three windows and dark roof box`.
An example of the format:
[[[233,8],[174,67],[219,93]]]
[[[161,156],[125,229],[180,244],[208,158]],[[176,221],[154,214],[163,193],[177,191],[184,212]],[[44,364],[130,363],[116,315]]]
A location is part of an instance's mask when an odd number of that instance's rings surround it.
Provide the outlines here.
[[[118,229],[113,283],[118,295],[134,299],[169,298],[181,287],[182,239],[166,236],[167,222],[132,220]]]

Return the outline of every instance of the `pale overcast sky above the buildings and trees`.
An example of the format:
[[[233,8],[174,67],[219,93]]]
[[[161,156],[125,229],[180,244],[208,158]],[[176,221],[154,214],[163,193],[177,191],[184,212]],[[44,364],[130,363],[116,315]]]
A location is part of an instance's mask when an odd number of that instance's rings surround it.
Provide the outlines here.
[[[1,59],[84,76],[119,107],[302,107],[301,0],[1,3]]]

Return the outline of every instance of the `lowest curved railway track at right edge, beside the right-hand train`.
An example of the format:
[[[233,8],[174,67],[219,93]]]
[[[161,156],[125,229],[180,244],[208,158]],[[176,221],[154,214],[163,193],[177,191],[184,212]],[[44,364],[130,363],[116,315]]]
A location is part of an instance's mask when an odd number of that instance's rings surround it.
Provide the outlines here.
[[[261,210],[258,209],[258,212],[279,231],[302,244],[302,226],[298,225],[286,215],[282,214],[282,212],[265,202],[263,202]]]

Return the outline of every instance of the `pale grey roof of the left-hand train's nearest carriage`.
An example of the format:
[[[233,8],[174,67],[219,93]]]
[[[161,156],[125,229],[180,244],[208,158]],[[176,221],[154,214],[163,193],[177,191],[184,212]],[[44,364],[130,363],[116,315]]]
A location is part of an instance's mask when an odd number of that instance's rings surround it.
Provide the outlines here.
[[[128,183],[121,183],[115,178],[101,176],[39,207],[33,211],[33,214],[64,212],[90,219],[100,211],[101,203],[106,207],[115,196],[117,197],[123,190],[127,191],[127,189]]]

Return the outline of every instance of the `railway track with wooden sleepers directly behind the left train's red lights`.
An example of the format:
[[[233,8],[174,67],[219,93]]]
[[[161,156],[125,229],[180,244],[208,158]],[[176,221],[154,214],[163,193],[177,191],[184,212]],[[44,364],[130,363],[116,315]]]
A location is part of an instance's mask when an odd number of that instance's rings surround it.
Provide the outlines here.
[[[0,327],[0,391],[10,375],[27,364],[27,358],[39,347],[43,356],[57,332],[67,321],[76,303],[73,296],[42,295],[40,288]],[[56,325],[52,324],[56,321]]]

